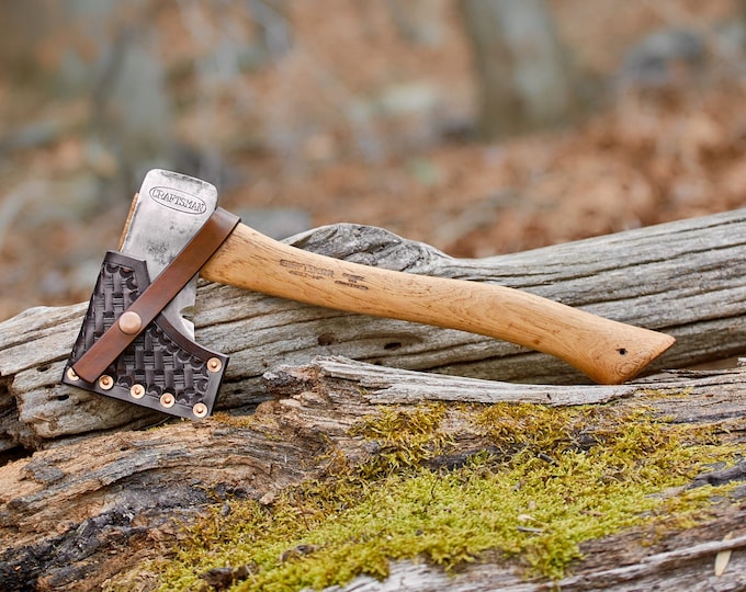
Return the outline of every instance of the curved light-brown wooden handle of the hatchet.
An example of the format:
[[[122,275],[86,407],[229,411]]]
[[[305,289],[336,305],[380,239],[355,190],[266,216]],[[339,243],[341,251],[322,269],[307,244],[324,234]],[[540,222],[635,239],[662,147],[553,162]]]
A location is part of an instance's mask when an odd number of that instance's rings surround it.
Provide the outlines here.
[[[200,274],[302,303],[510,341],[555,355],[602,384],[632,378],[675,341],[518,289],[310,253],[242,224]]]

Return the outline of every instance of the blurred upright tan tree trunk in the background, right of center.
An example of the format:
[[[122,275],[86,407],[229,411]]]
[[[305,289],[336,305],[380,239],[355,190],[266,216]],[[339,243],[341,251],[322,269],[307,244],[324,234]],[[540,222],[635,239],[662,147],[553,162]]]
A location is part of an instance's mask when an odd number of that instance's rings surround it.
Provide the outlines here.
[[[544,0],[463,0],[485,139],[560,125],[575,114],[573,73]]]

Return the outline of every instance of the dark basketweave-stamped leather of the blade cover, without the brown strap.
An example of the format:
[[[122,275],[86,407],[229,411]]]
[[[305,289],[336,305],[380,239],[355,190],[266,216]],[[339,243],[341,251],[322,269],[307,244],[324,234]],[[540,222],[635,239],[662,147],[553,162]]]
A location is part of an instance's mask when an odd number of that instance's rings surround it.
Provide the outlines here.
[[[67,367],[72,366],[117,321],[149,283],[144,261],[114,251],[106,253]],[[213,372],[207,364],[215,358],[221,364],[219,369]],[[162,315],[158,315],[106,368],[104,374],[113,378],[111,388],[102,388],[100,382],[70,379],[67,368],[63,382],[108,397],[195,419],[212,412],[227,362],[227,356],[196,344]],[[134,385],[144,387],[140,397],[133,396]],[[161,402],[166,394],[173,396],[174,402],[170,407]],[[203,403],[206,412],[195,414],[197,403]],[[197,409],[204,411],[205,408]]]

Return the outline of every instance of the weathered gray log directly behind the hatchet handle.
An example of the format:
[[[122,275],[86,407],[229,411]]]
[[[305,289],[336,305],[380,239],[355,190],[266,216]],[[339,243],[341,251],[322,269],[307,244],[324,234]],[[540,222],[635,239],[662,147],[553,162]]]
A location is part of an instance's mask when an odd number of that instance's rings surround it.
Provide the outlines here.
[[[659,369],[746,351],[745,237],[746,209],[739,209],[479,260],[452,259],[353,225],[318,228],[291,242],[370,265],[522,288],[669,332],[678,341],[651,368]],[[560,360],[460,331],[206,283],[197,306],[197,341],[231,355],[222,409],[256,406],[267,398],[267,368],[316,355],[508,382],[586,383]],[[36,308],[0,323],[0,452],[159,421],[154,412],[58,384],[84,308]]]

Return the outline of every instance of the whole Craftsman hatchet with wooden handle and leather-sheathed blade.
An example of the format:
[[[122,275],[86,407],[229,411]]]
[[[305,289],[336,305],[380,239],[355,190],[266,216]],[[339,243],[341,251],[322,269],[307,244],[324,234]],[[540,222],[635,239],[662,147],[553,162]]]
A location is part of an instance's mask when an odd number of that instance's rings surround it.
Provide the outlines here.
[[[217,207],[217,190],[152,170],[101,266],[63,382],[191,419],[228,357],[189,320],[196,276],[325,307],[460,329],[557,356],[599,383],[632,378],[674,338],[494,284],[396,272],[278,242]]]

